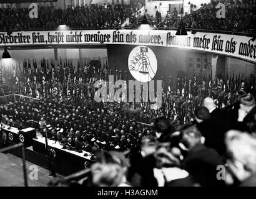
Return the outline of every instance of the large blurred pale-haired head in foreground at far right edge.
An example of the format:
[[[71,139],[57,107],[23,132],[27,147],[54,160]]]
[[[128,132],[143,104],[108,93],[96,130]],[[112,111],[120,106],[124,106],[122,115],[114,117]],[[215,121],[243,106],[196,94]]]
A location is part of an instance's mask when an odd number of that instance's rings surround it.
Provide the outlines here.
[[[256,137],[247,132],[230,130],[225,136],[227,146],[227,166],[229,174],[243,182],[256,172]],[[256,178],[256,176],[255,176]],[[227,183],[233,180],[227,178]],[[256,179],[255,179],[256,180]]]

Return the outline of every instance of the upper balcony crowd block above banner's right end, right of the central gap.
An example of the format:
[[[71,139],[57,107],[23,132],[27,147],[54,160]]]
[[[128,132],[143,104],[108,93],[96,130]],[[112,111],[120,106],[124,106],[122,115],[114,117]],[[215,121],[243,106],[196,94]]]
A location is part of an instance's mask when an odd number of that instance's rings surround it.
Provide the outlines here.
[[[225,5],[225,18],[217,19],[218,3]],[[255,34],[256,1],[220,0],[210,1],[199,10],[192,12],[185,24],[187,28],[225,30]]]

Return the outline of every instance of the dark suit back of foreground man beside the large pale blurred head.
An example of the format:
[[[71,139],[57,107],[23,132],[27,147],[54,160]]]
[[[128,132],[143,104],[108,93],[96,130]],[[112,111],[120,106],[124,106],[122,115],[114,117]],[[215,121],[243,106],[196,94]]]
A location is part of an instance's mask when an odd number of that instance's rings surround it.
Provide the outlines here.
[[[224,184],[223,180],[217,180],[218,165],[223,165],[219,154],[203,144],[194,146],[182,162],[182,167],[189,172],[195,182],[211,187]]]

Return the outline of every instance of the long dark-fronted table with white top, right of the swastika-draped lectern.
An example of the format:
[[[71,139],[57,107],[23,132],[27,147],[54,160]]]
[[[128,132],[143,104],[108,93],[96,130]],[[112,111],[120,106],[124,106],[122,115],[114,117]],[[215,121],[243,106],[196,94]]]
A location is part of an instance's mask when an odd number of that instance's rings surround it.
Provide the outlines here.
[[[32,139],[33,150],[40,154],[45,154],[46,139],[42,136],[37,136],[37,139]],[[47,139],[49,148],[56,152],[56,169],[57,172],[63,175],[69,175],[82,169],[87,169],[94,160],[91,160],[91,154],[83,151],[82,153],[74,150],[62,149],[59,142]],[[87,156],[84,156],[87,154]]]

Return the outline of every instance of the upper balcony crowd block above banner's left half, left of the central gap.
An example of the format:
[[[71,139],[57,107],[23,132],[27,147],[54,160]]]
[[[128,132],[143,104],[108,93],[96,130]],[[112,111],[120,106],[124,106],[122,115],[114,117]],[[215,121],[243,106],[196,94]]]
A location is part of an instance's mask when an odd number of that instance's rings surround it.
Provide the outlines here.
[[[91,4],[88,6],[67,6],[57,9],[52,6],[40,6],[38,19],[29,17],[29,9],[0,9],[0,27],[3,30],[56,30],[59,25],[67,25],[71,29],[115,28],[121,27],[127,17],[137,11],[137,7],[128,4]]]

